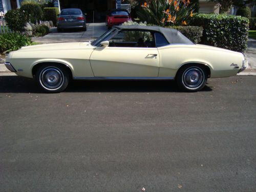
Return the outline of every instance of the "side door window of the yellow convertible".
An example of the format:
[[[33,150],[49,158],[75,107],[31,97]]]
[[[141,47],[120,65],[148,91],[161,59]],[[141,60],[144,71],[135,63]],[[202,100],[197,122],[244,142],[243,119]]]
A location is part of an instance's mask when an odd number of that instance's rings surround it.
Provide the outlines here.
[[[109,47],[156,47],[155,39],[149,31],[119,31],[109,41]]]

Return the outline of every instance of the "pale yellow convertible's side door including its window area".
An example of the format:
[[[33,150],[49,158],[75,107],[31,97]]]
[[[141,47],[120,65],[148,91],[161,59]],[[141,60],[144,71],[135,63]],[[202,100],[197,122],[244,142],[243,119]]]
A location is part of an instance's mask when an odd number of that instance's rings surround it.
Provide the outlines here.
[[[153,43],[154,38],[149,42],[150,46],[146,46],[148,37],[140,37],[131,31],[123,33],[110,39],[109,47],[97,47],[93,51],[90,62],[94,76],[158,77],[159,53]]]

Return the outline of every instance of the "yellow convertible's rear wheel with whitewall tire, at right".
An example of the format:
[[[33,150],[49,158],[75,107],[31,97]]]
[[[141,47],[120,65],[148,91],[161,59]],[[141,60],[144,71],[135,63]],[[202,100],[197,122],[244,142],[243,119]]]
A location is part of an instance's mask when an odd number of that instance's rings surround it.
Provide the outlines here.
[[[204,88],[206,81],[207,74],[200,66],[186,66],[176,76],[179,88],[189,92],[200,91]]]

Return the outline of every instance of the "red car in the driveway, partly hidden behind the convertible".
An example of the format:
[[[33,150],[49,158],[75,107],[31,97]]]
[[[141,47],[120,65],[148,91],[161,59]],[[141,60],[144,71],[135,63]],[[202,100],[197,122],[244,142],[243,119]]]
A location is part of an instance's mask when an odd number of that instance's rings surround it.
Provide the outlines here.
[[[132,20],[132,18],[126,9],[112,9],[106,14],[106,26],[108,28],[123,24],[128,20]]]

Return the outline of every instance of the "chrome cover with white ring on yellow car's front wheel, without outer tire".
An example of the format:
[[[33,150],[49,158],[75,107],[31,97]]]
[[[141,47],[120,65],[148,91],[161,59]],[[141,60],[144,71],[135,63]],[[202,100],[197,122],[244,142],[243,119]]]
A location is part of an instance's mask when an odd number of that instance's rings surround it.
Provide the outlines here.
[[[40,72],[39,80],[42,87],[54,91],[63,85],[64,75],[60,69],[49,67]]]

